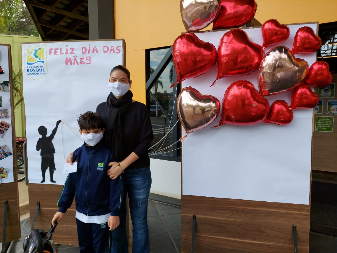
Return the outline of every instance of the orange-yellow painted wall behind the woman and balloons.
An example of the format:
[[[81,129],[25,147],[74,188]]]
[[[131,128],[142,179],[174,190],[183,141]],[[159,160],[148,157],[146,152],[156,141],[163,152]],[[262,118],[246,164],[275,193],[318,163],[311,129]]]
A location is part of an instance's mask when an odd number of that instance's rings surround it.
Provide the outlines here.
[[[337,21],[336,0],[256,0],[255,18],[281,24]],[[179,0],[115,0],[115,35],[126,41],[134,99],[145,103],[145,49],[171,46],[185,32]],[[205,30],[210,30],[212,24]]]

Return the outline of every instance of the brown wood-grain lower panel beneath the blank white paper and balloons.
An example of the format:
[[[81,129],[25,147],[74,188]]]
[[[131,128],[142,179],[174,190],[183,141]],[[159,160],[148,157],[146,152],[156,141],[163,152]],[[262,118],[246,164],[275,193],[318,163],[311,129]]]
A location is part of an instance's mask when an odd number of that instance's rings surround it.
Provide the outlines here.
[[[192,216],[196,252],[309,251],[310,205],[182,195],[181,252],[190,252]]]

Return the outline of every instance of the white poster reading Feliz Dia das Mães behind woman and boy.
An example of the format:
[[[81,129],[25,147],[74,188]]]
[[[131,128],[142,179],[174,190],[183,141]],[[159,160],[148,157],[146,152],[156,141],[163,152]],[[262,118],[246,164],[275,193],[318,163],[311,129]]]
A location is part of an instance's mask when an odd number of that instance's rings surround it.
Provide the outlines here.
[[[106,101],[111,69],[125,64],[125,41],[22,43],[21,56],[28,179],[30,183],[42,181],[41,150],[36,148],[42,138],[39,126],[47,129],[49,137],[61,120],[54,138],[50,138],[55,149],[56,183],[51,182],[47,169],[43,184],[63,185],[67,176],[63,173],[65,159],[83,144],[77,119],[84,112],[96,111],[97,105]]]

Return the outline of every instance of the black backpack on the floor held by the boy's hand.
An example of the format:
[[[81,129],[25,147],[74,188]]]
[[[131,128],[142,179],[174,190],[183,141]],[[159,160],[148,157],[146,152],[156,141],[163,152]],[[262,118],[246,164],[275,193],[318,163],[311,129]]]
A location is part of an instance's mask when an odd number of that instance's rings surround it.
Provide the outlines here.
[[[52,241],[53,232],[57,226],[51,224],[51,229],[32,229],[23,242],[24,253],[57,253],[54,242]]]

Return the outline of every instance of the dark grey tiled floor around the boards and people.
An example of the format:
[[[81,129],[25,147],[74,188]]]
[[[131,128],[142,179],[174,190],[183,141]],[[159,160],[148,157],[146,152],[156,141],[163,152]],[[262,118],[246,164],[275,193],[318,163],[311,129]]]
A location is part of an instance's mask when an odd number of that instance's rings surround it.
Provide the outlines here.
[[[150,252],[179,253],[180,207],[149,200],[148,225],[150,232]],[[21,239],[11,242],[8,253],[23,252],[23,240],[30,231],[29,218],[21,221]],[[1,245],[1,244],[0,244]],[[56,245],[58,253],[78,253],[79,247]],[[0,246],[1,247],[1,246]]]

